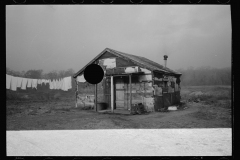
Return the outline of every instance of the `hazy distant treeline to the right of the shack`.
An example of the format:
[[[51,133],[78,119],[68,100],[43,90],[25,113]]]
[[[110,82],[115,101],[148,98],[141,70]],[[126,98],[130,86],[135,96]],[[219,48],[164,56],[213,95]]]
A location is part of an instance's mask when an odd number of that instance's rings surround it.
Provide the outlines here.
[[[231,85],[231,68],[211,68],[199,67],[188,69],[178,69],[182,73],[181,85],[200,86],[200,85]]]

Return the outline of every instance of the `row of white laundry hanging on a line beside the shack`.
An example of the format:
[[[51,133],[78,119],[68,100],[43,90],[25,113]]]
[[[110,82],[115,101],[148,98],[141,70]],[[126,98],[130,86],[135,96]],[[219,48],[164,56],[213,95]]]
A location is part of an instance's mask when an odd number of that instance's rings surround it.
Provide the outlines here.
[[[23,77],[15,77],[6,74],[6,89],[11,89],[16,91],[17,88],[26,90],[26,88],[36,88],[38,84],[49,84],[49,89],[61,89],[63,91],[68,91],[72,88],[72,77],[64,77],[59,79],[31,79]]]

